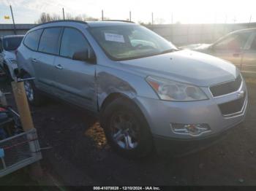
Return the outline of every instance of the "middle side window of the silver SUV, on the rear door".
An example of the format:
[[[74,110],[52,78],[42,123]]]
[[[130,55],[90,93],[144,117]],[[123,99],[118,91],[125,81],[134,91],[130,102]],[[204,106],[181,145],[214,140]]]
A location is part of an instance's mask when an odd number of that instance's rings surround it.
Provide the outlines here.
[[[45,28],[39,42],[39,52],[59,55],[59,44],[62,28]]]

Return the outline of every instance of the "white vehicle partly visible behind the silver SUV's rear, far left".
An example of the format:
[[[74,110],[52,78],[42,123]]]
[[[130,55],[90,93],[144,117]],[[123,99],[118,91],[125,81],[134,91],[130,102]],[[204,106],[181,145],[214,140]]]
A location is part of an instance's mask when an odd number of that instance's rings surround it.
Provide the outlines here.
[[[13,70],[17,69],[15,50],[20,46],[23,35],[0,37],[0,67],[8,79],[14,79]]]

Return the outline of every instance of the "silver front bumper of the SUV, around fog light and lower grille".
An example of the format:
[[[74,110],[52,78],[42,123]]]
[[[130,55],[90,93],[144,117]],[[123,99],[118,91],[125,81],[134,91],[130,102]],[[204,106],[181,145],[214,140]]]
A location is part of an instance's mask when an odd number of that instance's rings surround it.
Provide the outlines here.
[[[211,95],[208,87],[203,87],[202,90],[208,95],[209,99],[206,101],[175,102],[137,97],[136,101],[148,121],[153,136],[155,138],[175,139],[176,141],[209,139],[210,137],[218,137],[222,132],[233,128],[244,120],[248,104],[245,82],[242,82],[238,91],[215,98]],[[244,107],[241,112],[236,112],[229,116],[223,115],[218,105],[238,99],[238,93],[241,90],[246,93]],[[173,123],[208,124],[211,131],[202,133],[199,136],[178,134],[171,129],[171,124]],[[209,141],[211,142],[211,139]]]

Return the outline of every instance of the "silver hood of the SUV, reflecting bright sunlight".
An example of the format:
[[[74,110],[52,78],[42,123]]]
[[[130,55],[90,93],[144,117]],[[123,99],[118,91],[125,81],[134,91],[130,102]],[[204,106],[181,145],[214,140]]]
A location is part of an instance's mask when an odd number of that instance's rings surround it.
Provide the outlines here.
[[[211,55],[180,50],[129,61],[123,69],[146,76],[165,77],[178,82],[208,87],[235,79],[239,71],[233,64]]]

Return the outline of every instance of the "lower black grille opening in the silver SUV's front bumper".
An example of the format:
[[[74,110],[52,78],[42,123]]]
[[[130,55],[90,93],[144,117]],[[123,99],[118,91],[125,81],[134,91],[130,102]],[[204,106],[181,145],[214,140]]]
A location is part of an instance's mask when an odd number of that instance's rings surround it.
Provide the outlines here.
[[[246,94],[244,93],[243,98],[238,98],[234,101],[230,101],[230,102],[227,102],[224,104],[219,104],[219,109],[223,115],[241,112],[241,110],[244,106],[245,98],[246,98]]]

